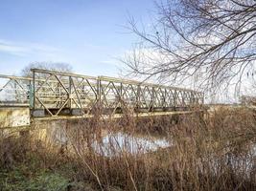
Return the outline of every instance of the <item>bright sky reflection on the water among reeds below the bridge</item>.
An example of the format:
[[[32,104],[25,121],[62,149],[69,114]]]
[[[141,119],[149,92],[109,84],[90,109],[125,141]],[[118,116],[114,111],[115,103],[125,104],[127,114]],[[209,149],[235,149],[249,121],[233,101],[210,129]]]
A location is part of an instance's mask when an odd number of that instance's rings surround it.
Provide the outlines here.
[[[102,156],[113,157],[121,155],[123,152],[145,154],[171,145],[172,143],[165,138],[152,138],[148,136],[138,138],[119,132],[106,135],[101,142],[95,141],[92,147],[96,153]]]

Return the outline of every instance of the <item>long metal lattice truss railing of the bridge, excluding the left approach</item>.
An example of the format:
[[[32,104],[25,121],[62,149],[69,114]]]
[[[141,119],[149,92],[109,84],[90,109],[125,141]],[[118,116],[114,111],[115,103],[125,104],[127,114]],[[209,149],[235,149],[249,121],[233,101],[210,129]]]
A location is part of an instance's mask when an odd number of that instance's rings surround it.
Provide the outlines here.
[[[105,112],[127,108],[137,112],[173,111],[203,103],[203,93],[106,76],[59,73],[33,69],[31,100],[35,116]],[[40,113],[41,111],[41,113]]]

